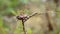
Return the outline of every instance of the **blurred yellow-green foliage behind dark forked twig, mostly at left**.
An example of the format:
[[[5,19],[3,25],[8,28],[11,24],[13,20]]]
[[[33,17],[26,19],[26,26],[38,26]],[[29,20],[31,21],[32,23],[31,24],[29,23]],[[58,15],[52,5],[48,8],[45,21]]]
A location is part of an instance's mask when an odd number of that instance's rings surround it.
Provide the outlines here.
[[[33,0],[34,1],[34,0]],[[16,28],[11,29],[11,24],[14,24],[13,22],[9,22],[10,20],[7,18],[7,22],[4,21],[5,16],[13,17],[20,14],[20,11],[23,11],[24,4],[27,4],[28,0],[0,0],[0,34],[9,34],[9,32],[12,32],[11,34],[23,34],[22,29],[22,22],[17,21],[16,22]],[[57,7],[57,20],[58,24],[60,26],[60,6]],[[25,10],[25,13],[29,14],[29,10]],[[13,26],[13,25],[12,25]],[[11,31],[10,31],[11,30]],[[32,34],[32,31],[29,29],[28,34]]]

